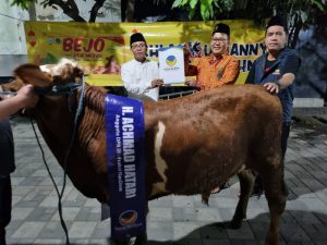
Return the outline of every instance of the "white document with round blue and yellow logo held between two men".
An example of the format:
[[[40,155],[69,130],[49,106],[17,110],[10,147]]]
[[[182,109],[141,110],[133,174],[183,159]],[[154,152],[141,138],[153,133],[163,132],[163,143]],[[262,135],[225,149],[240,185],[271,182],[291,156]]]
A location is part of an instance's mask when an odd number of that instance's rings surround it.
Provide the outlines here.
[[[182,46],[159,49],[159,78],[162,78],[165,84],[185,82]]]

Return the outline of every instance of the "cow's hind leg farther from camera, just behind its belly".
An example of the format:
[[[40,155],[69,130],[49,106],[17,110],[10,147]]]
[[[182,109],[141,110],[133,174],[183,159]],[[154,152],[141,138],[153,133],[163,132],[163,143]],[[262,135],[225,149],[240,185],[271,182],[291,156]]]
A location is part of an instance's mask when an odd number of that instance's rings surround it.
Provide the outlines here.
[[[241,191],[235,213],[229,225],[232,229],[241,228],[243,219],[246,218],[247,203],[254,184],[254,175],[251,170],[243,170],[238,174],[238,176],[240,180]]]

